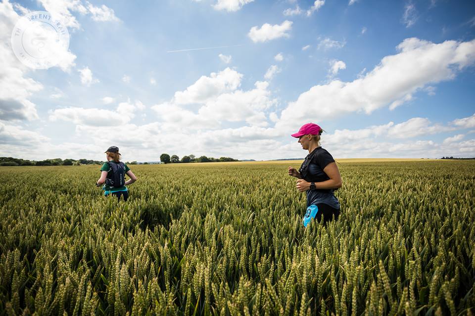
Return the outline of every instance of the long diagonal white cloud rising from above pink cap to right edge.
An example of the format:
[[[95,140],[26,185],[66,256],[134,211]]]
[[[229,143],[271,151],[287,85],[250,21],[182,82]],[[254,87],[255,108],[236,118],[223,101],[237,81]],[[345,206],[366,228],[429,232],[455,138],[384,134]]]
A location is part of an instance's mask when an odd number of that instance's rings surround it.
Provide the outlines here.
[[[298,125],[307,117],[324,119],[350,112],[369,114],[389,105],[394,108],[410,100],[418,90],[451,80],[459,69],[473,65],[474,44],[475,40],[435,44],[406,39],[397,46],[397,54],[385,56],[361,78],[351,82],[333,80],[301,93],[282,111],[278,125]],[[471,122],[468,119],[454,124],[470,126]]]

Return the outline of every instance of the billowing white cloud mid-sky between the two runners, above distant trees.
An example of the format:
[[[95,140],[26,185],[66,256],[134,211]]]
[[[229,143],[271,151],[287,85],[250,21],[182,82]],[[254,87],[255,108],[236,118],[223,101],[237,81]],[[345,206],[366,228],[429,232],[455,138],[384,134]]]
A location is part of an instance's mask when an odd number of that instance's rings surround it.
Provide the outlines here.
[[[250,126],[268,125],[266,111],[276,104],[267,82],[256,82],[251,90],[240,90],[242,74],[226,68],[202,76],[184,91],[175,92],[167,102],[152,106],[164,129],[219,129],[222,122],[243,122]],[[197,112],[183,108],[195,104]]]

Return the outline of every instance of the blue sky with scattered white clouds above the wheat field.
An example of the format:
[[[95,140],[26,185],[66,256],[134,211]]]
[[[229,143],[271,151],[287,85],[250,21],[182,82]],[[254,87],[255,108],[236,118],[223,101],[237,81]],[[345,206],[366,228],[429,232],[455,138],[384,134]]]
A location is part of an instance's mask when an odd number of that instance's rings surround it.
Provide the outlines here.
[[[1,156],[303,157],[308,122],[335,158],[475,156],[473,1],[138,3],[0,3]],[[36,10],[70,33],[46,70],[10,47]]]

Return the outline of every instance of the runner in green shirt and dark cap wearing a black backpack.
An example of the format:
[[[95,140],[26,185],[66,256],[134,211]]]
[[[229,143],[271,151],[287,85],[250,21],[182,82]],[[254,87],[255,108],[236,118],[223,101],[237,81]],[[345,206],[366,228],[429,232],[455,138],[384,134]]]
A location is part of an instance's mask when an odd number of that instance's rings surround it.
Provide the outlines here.
[[[137,177],[134,175],[134,173],[130,170],[130,168],[124,164],[123,162],[120,162],[121,155],[119,153],[119,147],[116,146],[110,146],[107,148],[105,151],[106,154],[106,159],[107,162],[102,165],[100,168],[100,178],[96,182],[96,186],[100,186],[101,184],[104,184],[102,186],[102,189],[104,190],[104,195],[108,196],[109,194],[115,195],[117,197],[117,200],[120,201],[120,197],[124,197],[124,201],[127,201],[129,198],[129,191],[127,190],[127,185],[134,183],[137,181]],[[123,168],[124,173],[129,176],[129,180],[124,182],[124,185],[122,186],[111,186],[108,183],[110,183],[110,180],[114,179],[114,171],[112,169],[111,164],[117,164],[118,168]],[[109,181],[107,181],[109,180]]]

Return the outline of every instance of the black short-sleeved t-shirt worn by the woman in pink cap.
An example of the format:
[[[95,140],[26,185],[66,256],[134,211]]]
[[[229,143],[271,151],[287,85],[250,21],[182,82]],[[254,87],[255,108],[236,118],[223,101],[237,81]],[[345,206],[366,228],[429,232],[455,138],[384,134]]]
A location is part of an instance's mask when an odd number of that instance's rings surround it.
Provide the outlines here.
[[[323,170],[334,161],[332,155],[326,149],[317,147],[305,157],[299,172],[307,182],[327,181],[330,177]],[[333,191],[333,189],[307,190],[307,207],[312,204],[324,203],[334,209],[340,209],[340,203]]]

